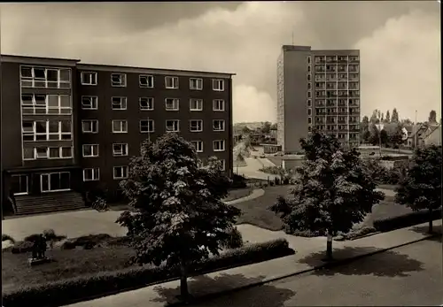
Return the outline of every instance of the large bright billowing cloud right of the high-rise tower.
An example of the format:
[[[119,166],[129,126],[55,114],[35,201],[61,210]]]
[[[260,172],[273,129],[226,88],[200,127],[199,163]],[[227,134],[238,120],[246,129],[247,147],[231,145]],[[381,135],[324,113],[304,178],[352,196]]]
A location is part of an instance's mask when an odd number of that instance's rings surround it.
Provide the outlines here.
[[[397,107],[400,118],[441,114],[439,22],[424,12],[389,19],[355,44],[361,50],[361,111]]]

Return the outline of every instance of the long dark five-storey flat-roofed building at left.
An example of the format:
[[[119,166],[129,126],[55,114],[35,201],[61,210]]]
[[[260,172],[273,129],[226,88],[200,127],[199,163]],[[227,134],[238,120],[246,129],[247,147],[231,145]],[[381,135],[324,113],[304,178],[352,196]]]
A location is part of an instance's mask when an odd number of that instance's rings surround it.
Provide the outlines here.
[[[18,213],[117,191],[141,143],[170,132],[192,142],[203,165],[215,156],[231,173],[231,73],[9,55],[1,70],[2,201]]]

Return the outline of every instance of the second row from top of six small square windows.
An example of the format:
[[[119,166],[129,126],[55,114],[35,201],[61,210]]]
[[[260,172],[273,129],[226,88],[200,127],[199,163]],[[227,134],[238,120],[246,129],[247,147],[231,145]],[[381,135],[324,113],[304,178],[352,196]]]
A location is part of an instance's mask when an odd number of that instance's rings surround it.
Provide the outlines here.
[[[154,110],[154,98],[152,97],[139,97],[138,105],[141,111],[153,111]],[[112,97],[111,106],[113,110],[127,110],[128,98],[127,97]],[[82,110],[97,110],[98,109],[98,97],[97,96],[82,96]],[[165,110],[166,111],[179,111],[180,99],[178,98],[165,98]],[[190,99],[190,111],[203,111],[203,99]],[[213,100],[213,111],[225,111],[225,101],[223,99]]]

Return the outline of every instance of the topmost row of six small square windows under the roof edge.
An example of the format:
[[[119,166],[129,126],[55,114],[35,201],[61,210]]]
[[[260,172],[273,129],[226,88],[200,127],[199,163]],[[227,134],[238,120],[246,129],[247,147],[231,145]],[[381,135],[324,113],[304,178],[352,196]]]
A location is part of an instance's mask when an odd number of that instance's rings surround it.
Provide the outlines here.
[[[82,72],[81,73],[82,85],[97,85],[98,76],[95,72]],[[222,92],[225,89],[225,84],[223,79],[213,79],[212,80],[213,90]],[[127,75],[126,73],[111,73],[111,86],[126,88],[127,86]],[[149,74],[138,75],[138,86],[140,88],[154,88],[154,76]],[[177,89],[179,88],[178,77],[165,76],[164,84],[165,88]],[[203,79],[201,78],[190,78],[189,89],[202,90],[203,89]]]

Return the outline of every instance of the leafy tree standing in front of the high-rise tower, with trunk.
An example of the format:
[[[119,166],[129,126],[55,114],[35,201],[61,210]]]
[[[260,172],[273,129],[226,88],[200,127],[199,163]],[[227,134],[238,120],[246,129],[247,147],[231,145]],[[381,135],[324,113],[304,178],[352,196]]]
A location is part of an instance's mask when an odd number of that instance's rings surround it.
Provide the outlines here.
[[[284,221],[286,231],[328,235],[326,260],[332,258],[332,236],[348,232],[372,206],[384,199],[377,182],[355,150],[345,150],[333,135],[317,131],[300,144],[305,161],[297,171],[291,196],[270,207]]]

